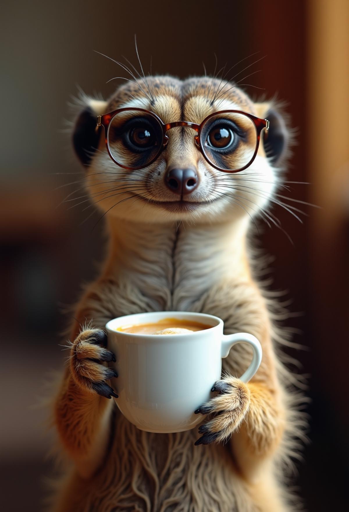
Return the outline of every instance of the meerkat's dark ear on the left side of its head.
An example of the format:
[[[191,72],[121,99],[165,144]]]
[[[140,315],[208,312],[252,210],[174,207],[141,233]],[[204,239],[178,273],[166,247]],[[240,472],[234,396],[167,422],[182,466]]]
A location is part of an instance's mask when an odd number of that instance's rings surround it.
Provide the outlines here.
[[[105,113],[107,102],[83,96],[78,103],[80,113],[74,124],[73,145],[80,162],[87,166],[99,144],[101,132],[96,131],[97,116]]]

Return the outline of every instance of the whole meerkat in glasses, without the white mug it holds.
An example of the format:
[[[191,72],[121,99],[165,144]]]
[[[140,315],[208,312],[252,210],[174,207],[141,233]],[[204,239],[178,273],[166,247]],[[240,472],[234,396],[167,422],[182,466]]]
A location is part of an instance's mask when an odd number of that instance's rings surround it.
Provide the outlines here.
[[[107,226],[108,250],[76,307],[54,399],[71,465],[51,510],[294,510],[283,463],[301,421],[251,238],[254,219],[282,182],[289,144],[283,116],[225,80],[149,76],[123,84],[108,101],[85,97],[73,141]],[[118,400],[118,376],[108,367],[117,354],[104,327],[114,317],[166,310],[222,318],[225,334],[260,340],[263,360],[246,384],[237,375],[251,351],[244,344],[231,350],[215,396],[198,404],[200,428],[155,434],[138,430],[110,399]]]

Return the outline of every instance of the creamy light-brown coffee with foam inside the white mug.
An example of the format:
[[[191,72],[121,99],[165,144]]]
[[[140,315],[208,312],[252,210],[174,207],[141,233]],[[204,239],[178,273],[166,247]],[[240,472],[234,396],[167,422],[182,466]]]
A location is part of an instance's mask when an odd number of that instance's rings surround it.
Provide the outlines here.
[[[163,318],[150,324],[126,325],[118,327],[117,331],[132,334],[190,334],[194,331],[203,331],[212,326],[180,318]]]

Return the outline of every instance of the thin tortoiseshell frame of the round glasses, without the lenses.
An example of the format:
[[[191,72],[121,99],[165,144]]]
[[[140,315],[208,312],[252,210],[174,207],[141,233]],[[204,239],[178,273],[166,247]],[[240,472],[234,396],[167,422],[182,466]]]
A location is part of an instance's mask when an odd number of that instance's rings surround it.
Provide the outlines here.
[[[110,151],[110,147],[109,147],[109,127],[110,127],[112,119],[115,116],[117,116],[118,114],[122,113],[122,112],[139,112],[141,114],[147,114],[147,115],[151,116],[158,123],[159,127],[161,128],[161,131],[162,131],[162,142],[159,144],[159,148],[158,148],[158,151],[156,152],[156,155],[149,162],[147,162],[145,165],[140,165],[138,167],[128,167],[127,165],[123,165],[122,163],[118,162],[114,158],[114,156],[112,155],[112,153]],[[255,142],[254,153],[253,153],[251,159],[249,160],[249,162],[246,165],[244,165],[243,167],[240,167],[239,169],[224,169],[224,168],[219,167],[218,165],[215,165],[207,157],[207,155],[206,155],[206,153],[204,151],[204,148],[202,147],[201,133],[202,133],[203,127],[205,126],[206,122],[208,120],[210,120],[212,117],[217,116],[217,115],[221,115],[221,114],[241,114],[241,115],[244,115],[244,116],[248,117],[248,119],[250,119],[252,121],[252,123],[254,125],[254,128],[255,128],[256,142]],[[266,130],[266,131],[269,130],[269,121],[268,121],[268,119],[260,119],[259,117],[253,116],[252,114],[249,114],[248,112],[244,112],[244,111],[241,111],[241,110],[222,110],[222,111],[218,111],[218,112],[214,112],[213,114],[210,114],[200,124],[196,124],[196,123],[192,123],[192,122],[187,122],[187,121],[175,121],[175,122],[172,122],[172,123],[164,123],[159,118],[159,116],[154,114],[154,112],[151,112],[151,111],[146,110],[146,109],[140,109],[140,108],[134,108],[134,107],[126,107],[124,109],[113,110],[112,112],[108,112],[107,114],[103,114],[101,116],[98,116],[97,117],[96,130],[98,130],[100,126],[103,126],[103,128],[104,128],[105,144],[106,144],[107,152],[108,152],[110,158],[112,159],[112,161],[115,164],[119,165],[120,167],[123,167],[124,169],[129,169],[129,170],[142,169],[144,167],[147,167],[151,163],[153,163],[159,157],[160,153],[162,151],[164,151],[164,149],[165,149],[165,147],[166,147],[166,145],[167,145],[167,143],[169,141],[169,137],[167,135],[167,132],[169,130],[171,130],[172,128],[175,128],[175,127],[178,127],[178,126],[184,126],[184,127],[192,128],[193,130],[195,130],[196,135],[194,136],[194,142],[195,142],[197,148],[199,149],[199,151],[201,152],[202,156],[204,157],[204,159],[210,165],[215,167],[217,170],[223,171],[224,173],[238,173],[241,170],[244,170],[247,167],[249,167],[251,165],[251,163],[253,162],[253,160],[255,159],[255,157],[257,155],[257,152],[258,152],[259,144],[260,144],[262,130]]]

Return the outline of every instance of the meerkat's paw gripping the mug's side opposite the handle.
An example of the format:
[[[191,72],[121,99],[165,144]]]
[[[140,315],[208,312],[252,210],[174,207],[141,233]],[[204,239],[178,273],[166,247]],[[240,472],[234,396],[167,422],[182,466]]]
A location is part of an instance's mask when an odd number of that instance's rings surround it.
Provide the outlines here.
[[[106,398],[118,395],[105,382],[118,374],[103,362],[115,362],[115,356],[106,349],[107,335],[100,329],[82,331],[74,340],[71,348],[71,370],[78,385],[91,393]]]

